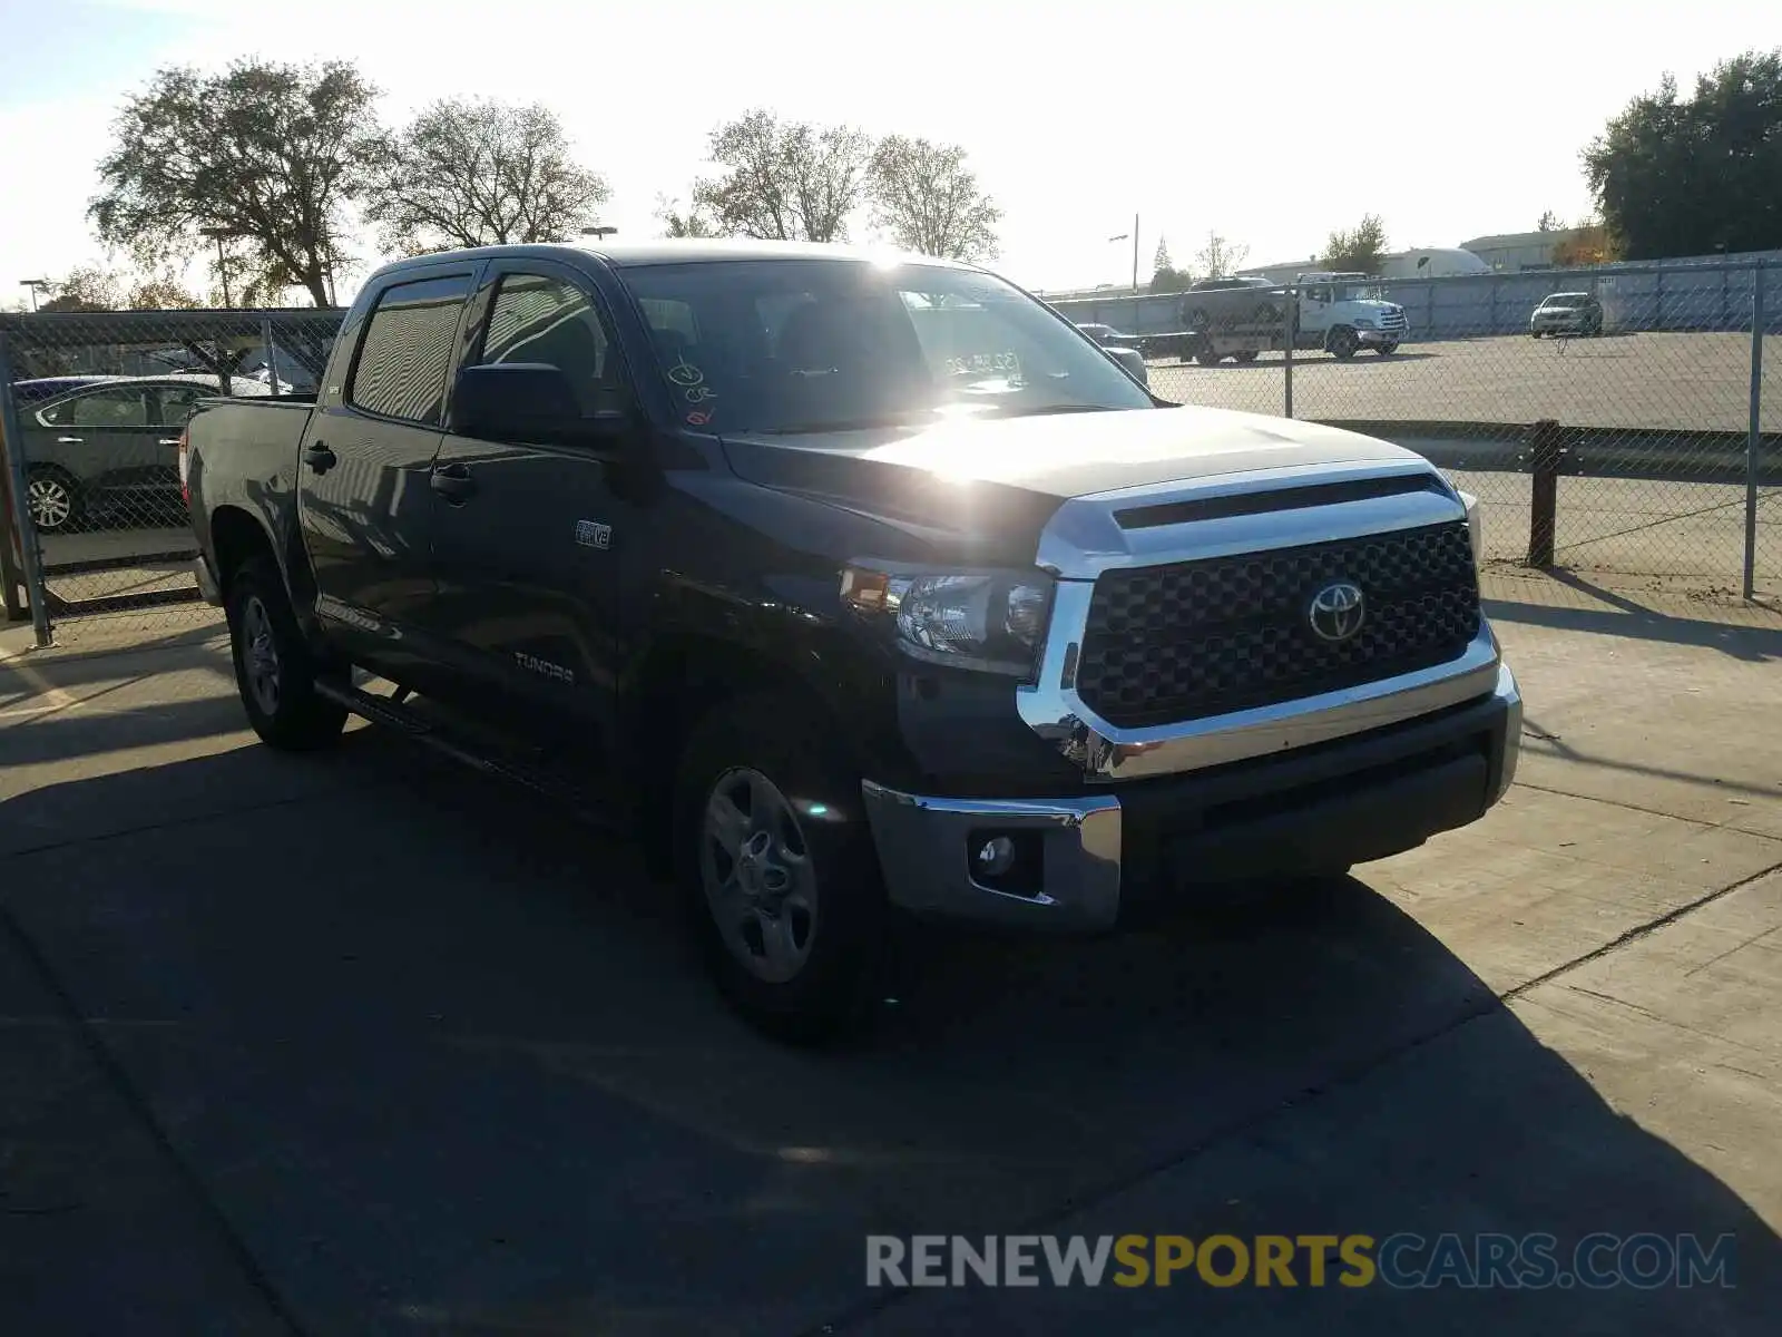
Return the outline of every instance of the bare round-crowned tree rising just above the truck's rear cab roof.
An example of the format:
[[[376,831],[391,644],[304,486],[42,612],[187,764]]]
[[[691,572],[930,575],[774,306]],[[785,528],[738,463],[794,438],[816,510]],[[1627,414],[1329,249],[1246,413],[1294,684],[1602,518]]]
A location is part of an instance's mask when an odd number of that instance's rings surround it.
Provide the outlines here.
[[[538,103],[435,102],[387,135],[378,159],[365,217],[405,255],[568,241],[611,194]]]

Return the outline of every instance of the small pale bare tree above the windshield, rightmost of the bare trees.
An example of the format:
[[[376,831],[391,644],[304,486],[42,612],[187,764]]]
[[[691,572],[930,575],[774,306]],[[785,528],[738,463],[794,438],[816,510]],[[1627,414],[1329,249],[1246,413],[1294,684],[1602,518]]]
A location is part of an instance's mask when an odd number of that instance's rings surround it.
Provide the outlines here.
[[[966,166],[959,144],[887,135],[868,168],[866,194],[873,221],[905,251],[950,260],[996,255],[1001,209]]]

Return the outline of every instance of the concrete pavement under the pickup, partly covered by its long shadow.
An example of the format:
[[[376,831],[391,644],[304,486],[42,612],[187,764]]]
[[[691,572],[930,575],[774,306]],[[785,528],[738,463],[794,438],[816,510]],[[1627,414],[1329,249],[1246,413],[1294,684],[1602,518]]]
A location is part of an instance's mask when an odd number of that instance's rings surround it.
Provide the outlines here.
[[[1488,594],[1529,738],[1484,822],[1155,934],[936,941],[839,1055],[732,1021],[529,795],[249,745],[205,627],[7,660],[0,1332],[1771,1332],[1782,619]],[[1018,1230],[1734,1232],[1737,1285],[864,1287],[868,1232]]]

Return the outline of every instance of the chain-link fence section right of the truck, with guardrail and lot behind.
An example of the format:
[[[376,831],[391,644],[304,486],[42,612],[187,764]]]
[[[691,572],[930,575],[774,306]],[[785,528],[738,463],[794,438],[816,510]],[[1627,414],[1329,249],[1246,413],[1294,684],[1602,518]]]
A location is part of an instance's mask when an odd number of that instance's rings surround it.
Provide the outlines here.
[[[1055,305],[1137,344],[1164,398],[1429,456],[1481,497],[1490,560],[1545,562],[1550,542],[1579,572],[1782,597],[1782,266],[1304,275]]]

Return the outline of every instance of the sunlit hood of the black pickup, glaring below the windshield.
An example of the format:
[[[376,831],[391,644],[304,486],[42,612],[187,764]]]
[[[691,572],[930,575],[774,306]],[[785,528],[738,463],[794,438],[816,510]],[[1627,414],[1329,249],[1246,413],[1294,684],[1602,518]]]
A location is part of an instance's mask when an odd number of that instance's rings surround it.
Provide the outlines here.
[[[811,435],[725,433],[731,467],[761,487],[875,504],[914,490],[1019,490],[1055,508],[1094,492],[1217,474],[1404,462],[1411,451],[1299,419],[1221,408],[1001,417]]]

